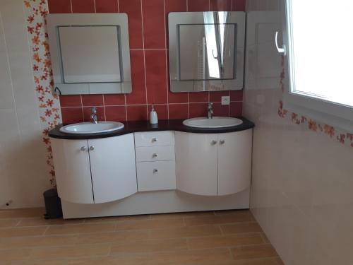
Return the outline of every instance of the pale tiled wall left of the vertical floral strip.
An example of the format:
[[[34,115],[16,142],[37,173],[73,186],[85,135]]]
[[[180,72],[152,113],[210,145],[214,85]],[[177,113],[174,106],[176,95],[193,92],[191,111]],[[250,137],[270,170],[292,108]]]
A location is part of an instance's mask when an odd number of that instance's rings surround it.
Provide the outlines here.
[[[42,206],[50,188],[23,0],[0,1],[0,208]]]

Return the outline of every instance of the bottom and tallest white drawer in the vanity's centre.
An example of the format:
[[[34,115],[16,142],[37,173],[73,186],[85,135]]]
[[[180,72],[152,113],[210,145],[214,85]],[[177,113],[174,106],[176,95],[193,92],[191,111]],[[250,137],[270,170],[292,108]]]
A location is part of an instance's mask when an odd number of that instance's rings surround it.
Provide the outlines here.
[[[138,162],[138,192],[176,189],[175,161]]]

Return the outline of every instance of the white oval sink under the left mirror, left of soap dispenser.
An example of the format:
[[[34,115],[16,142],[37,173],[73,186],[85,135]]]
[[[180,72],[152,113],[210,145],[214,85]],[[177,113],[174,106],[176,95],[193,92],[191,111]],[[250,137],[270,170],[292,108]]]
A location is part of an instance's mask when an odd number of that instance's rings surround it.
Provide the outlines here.
[[[76,124],[68,124],[60,128],[61,132],[66,134],[100,134],[109,131],[117,131],[123,129],[124,124],[121,122],[81,122]]]

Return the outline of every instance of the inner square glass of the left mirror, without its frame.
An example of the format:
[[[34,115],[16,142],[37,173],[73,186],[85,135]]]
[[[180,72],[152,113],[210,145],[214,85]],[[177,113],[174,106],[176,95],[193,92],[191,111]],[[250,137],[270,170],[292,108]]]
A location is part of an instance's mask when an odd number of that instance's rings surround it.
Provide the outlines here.
[[[119,26],[58,28],[64,83],[121,82]]]

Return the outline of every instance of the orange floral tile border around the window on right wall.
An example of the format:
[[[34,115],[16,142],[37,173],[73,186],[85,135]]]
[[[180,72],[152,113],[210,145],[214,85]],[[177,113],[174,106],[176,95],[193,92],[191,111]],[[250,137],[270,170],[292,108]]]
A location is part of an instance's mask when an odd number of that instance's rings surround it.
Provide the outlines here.
[[[285,57],[282,56],[282,72],[280,74],[280,89],[282,93],[285,92]],[[345,131],[341,131],[333,126],[328,124],[321,124],[319,122],[314,121],[313,119],[309,119],[302,115],[299,115],[294,112],[289,112],[283,108],[282,100],[279,102],[278,107],[278,115],[282,118],[290,119],[295,124],[305,124],[308,126],[308,129],[311,131],[315,131],[320,134],[325,134],[326,136],[330,137],[331,139],[335,139],[342,144],[347,144],[353,147],[353,134],[348,133]]]

